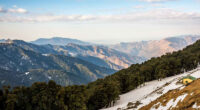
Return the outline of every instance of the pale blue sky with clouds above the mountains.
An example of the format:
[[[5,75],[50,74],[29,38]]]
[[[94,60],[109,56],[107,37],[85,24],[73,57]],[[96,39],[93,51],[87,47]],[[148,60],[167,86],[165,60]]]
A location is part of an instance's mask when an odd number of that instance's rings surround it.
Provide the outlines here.
[[[0,0],[0,39],[95,43],[200,35],[200,0]]]

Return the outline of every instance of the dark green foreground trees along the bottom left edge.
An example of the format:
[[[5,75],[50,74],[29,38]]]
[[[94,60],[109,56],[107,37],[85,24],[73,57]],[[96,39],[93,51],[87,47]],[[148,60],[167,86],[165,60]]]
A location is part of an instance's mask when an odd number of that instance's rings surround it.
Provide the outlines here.
[[[4,86],[0,90],[0,110],[97,110],[118,97],[116,85],[105,82],[93,92],[85,85],[62,87],[52,80],[12,90]]]

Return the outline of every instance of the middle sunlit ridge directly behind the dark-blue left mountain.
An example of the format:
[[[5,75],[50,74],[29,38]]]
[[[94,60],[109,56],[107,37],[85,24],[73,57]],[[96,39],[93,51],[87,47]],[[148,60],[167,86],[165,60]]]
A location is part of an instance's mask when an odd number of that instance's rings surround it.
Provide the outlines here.
[[[105,46],[86,46],[77,44],[68,44],[65,46],[35,45],[20,40],[14,40],[13,42],[15,45],[18,45],[26,50],[32,50],[42,54],[72,56],[101,67],[115,70],[127,68],[131,64],[141,63],[146,60],[142,57],[130,56]]]

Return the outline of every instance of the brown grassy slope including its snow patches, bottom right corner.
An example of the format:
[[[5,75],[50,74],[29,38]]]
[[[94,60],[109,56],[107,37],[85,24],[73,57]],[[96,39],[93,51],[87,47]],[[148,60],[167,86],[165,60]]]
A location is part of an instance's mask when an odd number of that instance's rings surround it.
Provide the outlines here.
[[[194,73],[200,78],[200,71]],[[140,110],[198,110],[200,109],[200,79],[186,87],[176,88],[163,94],[161,97],[150,102]]]

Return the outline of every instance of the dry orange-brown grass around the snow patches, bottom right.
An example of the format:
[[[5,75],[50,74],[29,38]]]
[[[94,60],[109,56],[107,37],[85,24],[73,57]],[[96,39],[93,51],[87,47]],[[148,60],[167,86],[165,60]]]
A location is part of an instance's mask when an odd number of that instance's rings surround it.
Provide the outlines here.
[[[175,89],[167,92],[156,100],[152,101],[150,104],[140,108],[140,110],[149,110],[152,107],[155,109],[159,108],[160,105],[166,106],[166,104],[171,100],[176,100],[177,97],[188,94],[184,100],[177,103],[177,106],[170,108],[171,110],[196,110],[192,106],[196,103],[197,106],[200,106],[200,79],[192,82],[187,85],[182,90]],[[158,104],[160,103],[160,104]],[[200,110],[200,109],[199,109]]]

